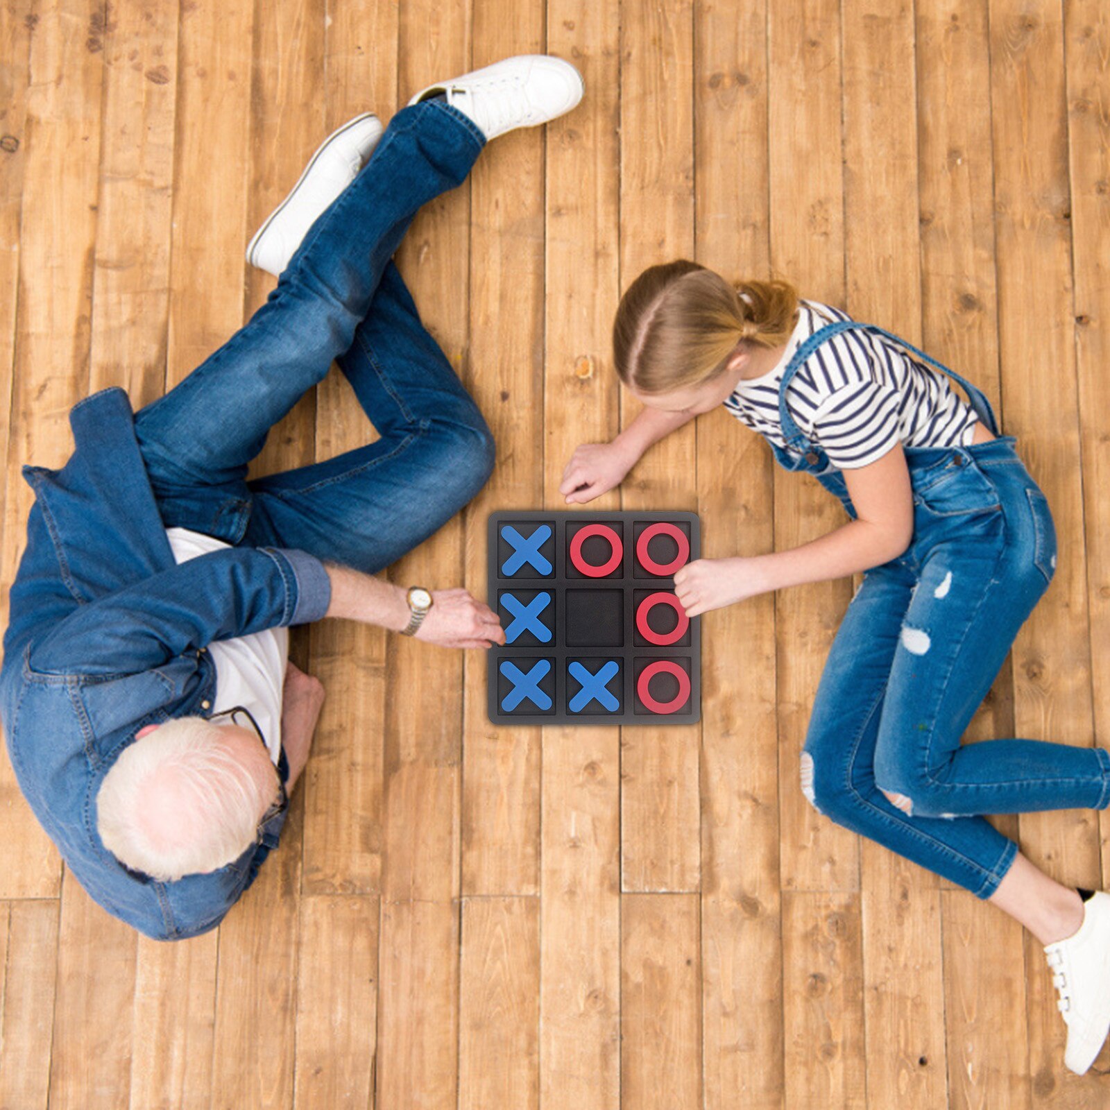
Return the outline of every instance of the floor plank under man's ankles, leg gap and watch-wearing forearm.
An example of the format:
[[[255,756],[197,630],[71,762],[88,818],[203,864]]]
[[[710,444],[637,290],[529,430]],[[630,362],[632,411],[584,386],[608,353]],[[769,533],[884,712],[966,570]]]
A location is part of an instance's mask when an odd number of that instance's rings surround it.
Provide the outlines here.
[[[330,134],[373,111],[387,123],[396,101],[397,6],[329,4],[324,39]],[[316,457],[376,437],[342,374],[316,389]],[[376,894],[382,876],[382,735],[385,630],[329,620],[312,629],[312,670],[327,700],[305,778],[304,889]]]

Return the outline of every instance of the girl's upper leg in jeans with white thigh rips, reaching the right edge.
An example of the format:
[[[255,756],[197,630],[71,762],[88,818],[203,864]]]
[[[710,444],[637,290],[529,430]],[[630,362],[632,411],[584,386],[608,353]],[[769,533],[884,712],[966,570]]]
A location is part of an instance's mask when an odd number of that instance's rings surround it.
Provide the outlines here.
[[[1002,512],[956,517],[950,541],[932,546],[921,566],[890,669],[878,783],[918,815],[1102,809],[1110,801],[1103,748],[1028,739],[961,745],[1054,563],[1040,492],[1020,465],[997,471]]]

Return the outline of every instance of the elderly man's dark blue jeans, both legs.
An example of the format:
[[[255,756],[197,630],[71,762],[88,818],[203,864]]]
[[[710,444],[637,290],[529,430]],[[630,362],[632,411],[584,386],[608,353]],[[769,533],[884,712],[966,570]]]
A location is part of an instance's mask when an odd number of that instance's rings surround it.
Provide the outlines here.
[[[246,326],[139,412],[167,527],[375,572],[481,490],[493,467],[490,428],[391,258],[416,211],[461,184],[484,144],[442,101],[398,112]],[[248,481],[270,428],[333,360],[381,438]]]

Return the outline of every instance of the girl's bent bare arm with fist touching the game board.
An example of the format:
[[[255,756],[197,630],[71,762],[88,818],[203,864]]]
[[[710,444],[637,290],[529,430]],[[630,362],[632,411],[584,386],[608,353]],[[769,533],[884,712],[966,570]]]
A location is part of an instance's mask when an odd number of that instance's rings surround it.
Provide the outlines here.
[[[914,536],[914,498],[901,445],[844,476],[857,519],[788,551],[684,566],[675,575],[675,594],[687,616],[771,589],[844,578],[901,555]]]

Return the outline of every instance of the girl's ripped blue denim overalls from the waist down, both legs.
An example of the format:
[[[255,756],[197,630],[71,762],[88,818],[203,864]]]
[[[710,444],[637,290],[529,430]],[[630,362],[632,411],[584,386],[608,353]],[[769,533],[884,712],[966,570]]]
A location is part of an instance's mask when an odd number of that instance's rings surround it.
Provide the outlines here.
[[[1012,436],[907,458],[914,539],[864,575],[848,607],[814,704],[803,788],[837,824],[988,898],[1018,849],[979,815],[1102,809],[1110,754],[960,744],[1048,588],[1056,532]]]

